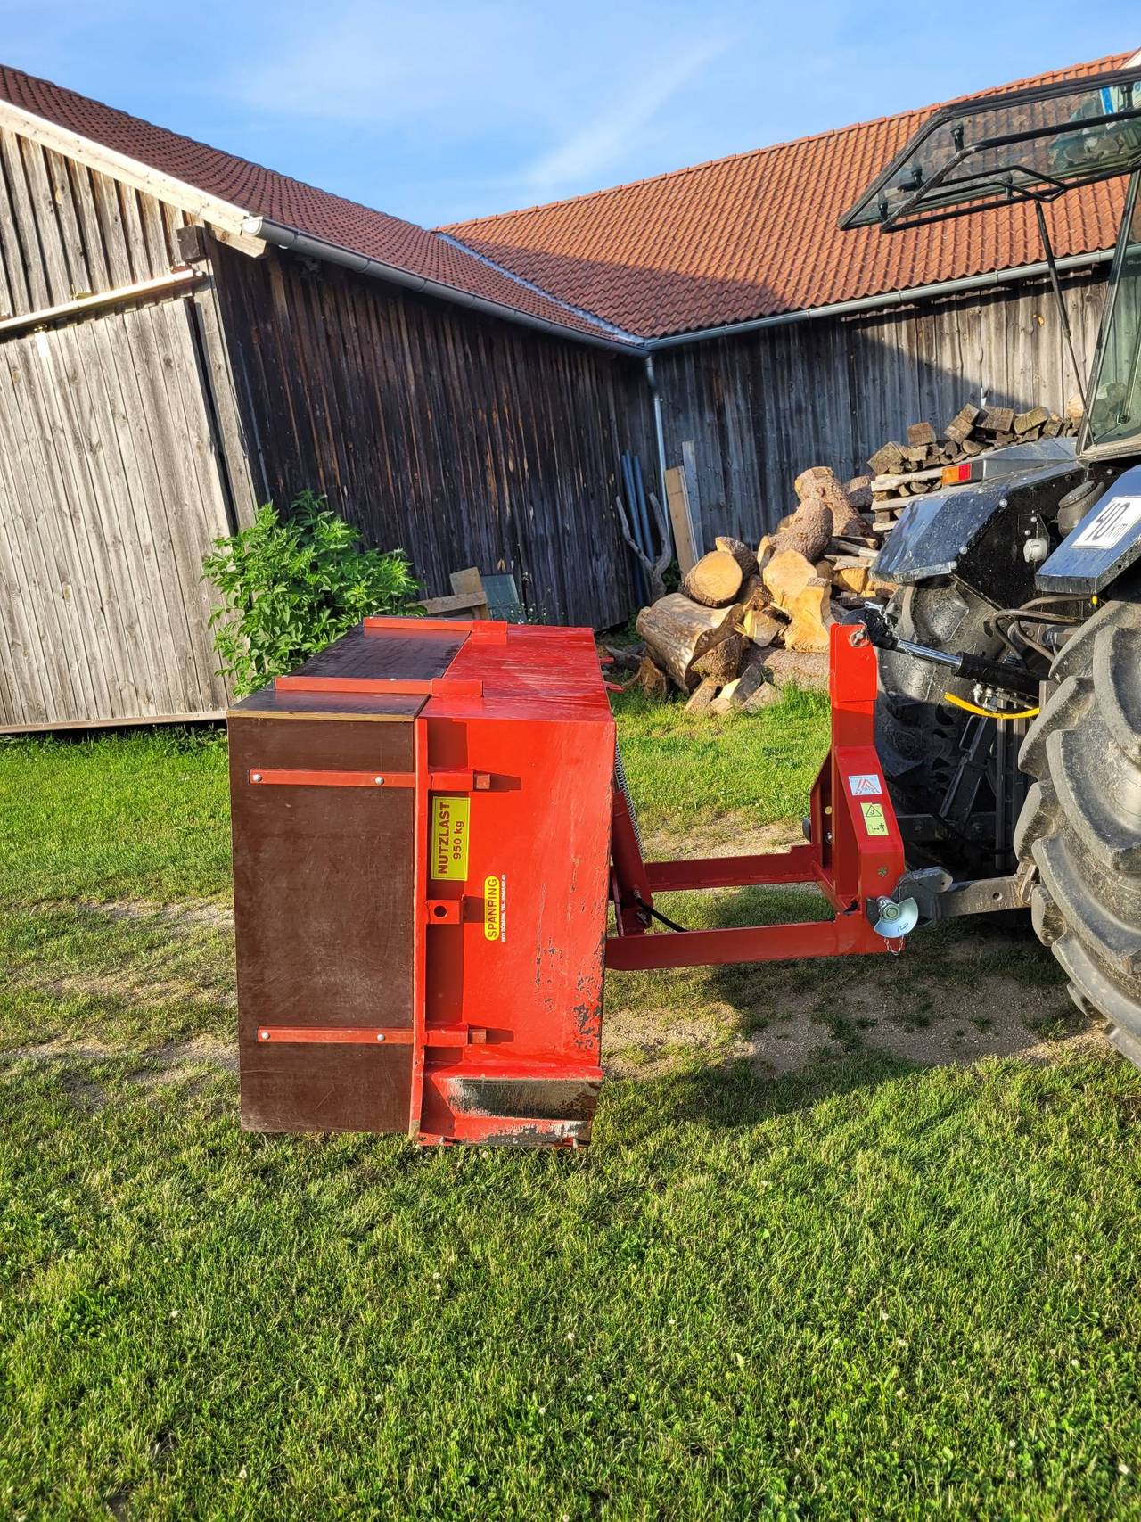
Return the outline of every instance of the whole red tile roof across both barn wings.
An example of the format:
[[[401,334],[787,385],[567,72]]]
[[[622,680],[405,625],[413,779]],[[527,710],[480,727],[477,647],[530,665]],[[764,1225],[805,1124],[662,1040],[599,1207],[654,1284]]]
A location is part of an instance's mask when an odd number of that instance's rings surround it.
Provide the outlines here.
[[[1006,88],[1085,78],[1127,58]],[[580,335],[685,333],[1041,259],[1028,207],[890,236],[837,230],[841,212],[939,107],[427,231],[2,64],[0,99],[251,216]],[[1114,180],[1050,207],[1057,254],[1111,247],[1123,193]]]

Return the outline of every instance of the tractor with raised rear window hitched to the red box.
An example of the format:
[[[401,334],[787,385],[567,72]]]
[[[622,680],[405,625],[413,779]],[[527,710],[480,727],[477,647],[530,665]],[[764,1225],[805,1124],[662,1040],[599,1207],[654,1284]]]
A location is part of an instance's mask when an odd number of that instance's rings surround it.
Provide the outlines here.
[[[910,501],[876,560],[899,591],[867,629],[898,896],[937,916],[966,880],[1028,906],[1079,1008],[1141,1065],[1141,68],[940,110],[840,225],[890,234],[1031,202],[1079,370],[1044,205],[1117,175],[1076,452],[1015,446]]]

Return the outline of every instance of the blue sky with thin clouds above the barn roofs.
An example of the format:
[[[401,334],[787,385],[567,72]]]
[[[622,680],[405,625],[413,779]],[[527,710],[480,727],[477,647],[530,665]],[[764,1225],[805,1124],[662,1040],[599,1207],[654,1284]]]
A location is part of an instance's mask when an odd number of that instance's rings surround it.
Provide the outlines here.
[[[0,40],[29,73],[434,225],[1136,50],[1141,9],[0,0]]]

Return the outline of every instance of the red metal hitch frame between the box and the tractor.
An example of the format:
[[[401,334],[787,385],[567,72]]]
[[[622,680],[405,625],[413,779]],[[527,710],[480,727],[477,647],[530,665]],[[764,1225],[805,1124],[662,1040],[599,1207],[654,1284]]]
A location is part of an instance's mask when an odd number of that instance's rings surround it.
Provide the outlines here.
[[[616,935],[607,939],[607,966],[622,971],[714,966],[873,954],[902,947],[901,941],[887,941],[873,928],[876,900],[890,896],[904,872],[904,842],[875,750],[876,656],[863,624],[834,624],[829,654],[832,746],[812,787],[806,845],[773,855],[644,861],[627,801],[615,788],[612,900]],[[834,918],[650,933],[654,893],[782,883],[817,884]]]

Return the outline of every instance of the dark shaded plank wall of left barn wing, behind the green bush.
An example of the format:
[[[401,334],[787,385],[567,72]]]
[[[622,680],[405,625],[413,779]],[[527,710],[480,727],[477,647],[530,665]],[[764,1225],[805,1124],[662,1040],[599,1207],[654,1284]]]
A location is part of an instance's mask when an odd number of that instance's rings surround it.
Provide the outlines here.
[[[323,492],[403,548],[429,595],[514,572],[536,618],[604,627],[633,586],[619,457],[653,486],[636,359],[418,298],[333,266],[218,248],[215,272],[260,495]]]

